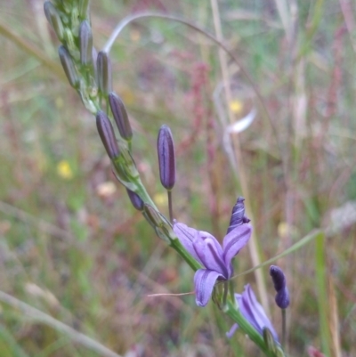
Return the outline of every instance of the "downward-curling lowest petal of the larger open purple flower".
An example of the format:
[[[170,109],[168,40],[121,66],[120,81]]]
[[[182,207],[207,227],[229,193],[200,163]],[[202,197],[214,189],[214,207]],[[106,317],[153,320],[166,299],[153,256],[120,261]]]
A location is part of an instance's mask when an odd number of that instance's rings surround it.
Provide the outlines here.
[[[213,293],[216,280],[222,275],[207,269],[198,269],[194,275],[195,302],[198,306],[205,306]]]

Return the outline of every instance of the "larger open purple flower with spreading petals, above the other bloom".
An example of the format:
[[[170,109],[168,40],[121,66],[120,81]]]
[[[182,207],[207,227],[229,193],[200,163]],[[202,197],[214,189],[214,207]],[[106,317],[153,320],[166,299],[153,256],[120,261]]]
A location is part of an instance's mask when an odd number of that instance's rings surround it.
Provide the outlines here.
[[[210,233],[197,231],[174,221],[174,233],[182,246],[200,264],[194,276],[196,303],[205,306],[212,295],[216,280],[229,280],[233,275],[231,260],[246,246],[252,228],[243,223],[230,231],[223,239],[223,247]]]

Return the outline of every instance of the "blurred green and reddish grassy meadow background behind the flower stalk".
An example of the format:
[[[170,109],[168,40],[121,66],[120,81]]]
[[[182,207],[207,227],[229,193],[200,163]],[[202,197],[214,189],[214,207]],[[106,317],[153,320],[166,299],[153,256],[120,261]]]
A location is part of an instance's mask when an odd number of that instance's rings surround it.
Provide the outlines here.
[[[95,0],[95,47],[126,15],[149,10],[214,35],[220,22],[240,64],[225,59],[226,101],[224,58],[191,28],[137,20],[117,39],[114,88],[129,112],[134,159],[151,197],[167,213],[156,152],[158,128],[167,124],[177,153],[177,219],[222,239],[244,173],[262,260],[325,230],[325,239],[277,262],[292,299],[287,351],[316,356],[313,346],[356,355],[356,5]],[[242,334],[225,337],[231,321],[214,304],[201,309],[193,296],[148,296],[191,291],[193,273],[111,173],[95,121],[63,75],[43,2],[3,1],[0,34],[0,356],[109,355],[95,352],[93,341],[126,357],[260,355]],[[229,107],[235,119],[257,113],[239,134],[238,166],[226,151]],[[252,266],[245,248],[236,272]],[[267,268],[263,276],[280,331]],[[255,276],[235,282],[242,291],[247,282],[255,287]]]

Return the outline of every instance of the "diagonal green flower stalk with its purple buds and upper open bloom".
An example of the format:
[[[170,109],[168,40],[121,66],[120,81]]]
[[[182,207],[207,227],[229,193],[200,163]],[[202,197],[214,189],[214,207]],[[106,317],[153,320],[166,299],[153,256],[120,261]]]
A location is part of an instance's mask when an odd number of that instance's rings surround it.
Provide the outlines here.
[[[142,184],[131,155],[132,129],[124,103],[117,94],[112,92],[109,49],[106,47],[98,53],[95,61],[96,51],[93,47],[93,33],[88,19],[88,6],[88,0],[56,1],[54,4],[46,2],[44,12],[62,43],[59,54],[69,84],[80,94],[85,108],[96,117],[98,133],[111,159],[117,180],[125,186],[134,207],[142,211],[142,215],[152,225],[158,237],[165,239],[196,272],[197,304],[201,306],[207,304],[215,282],[222,281],[223,295],[222,300],[219,296],[219,301],[223,302],[223,312],[237,322],[239,329],[247,334],[268,357],[277,356],[271,353],[271,348],[268,348],[263,336],[243,316],[233,292],[231,261],[246,245],[251,232],[247,224],[248,219],[244,215],[243,199],[242,201],[238,199],[235,210],[239,211],[239,214],[234,219],[231,217],[231,225],[224,238],[223,246],[205,231],[194,230],[182,223],[172,225],[171,191],[175,183],[174,142],[169,127],[162,126],[158,134],[158,161],[160,180],[168,191],[170,220],[158,211]],[[88,68],[92,69],[93,73],[97,72],[97,75],[91,76]],[[96,88],[99,90],[99,95]],[[105,110],[107,114],[101,108],[102,97],[107,104],[109,102],[112,116],[120,133],[118,139],[111,125],[108,107]],[[205,279],[208,281],[205,282]]]

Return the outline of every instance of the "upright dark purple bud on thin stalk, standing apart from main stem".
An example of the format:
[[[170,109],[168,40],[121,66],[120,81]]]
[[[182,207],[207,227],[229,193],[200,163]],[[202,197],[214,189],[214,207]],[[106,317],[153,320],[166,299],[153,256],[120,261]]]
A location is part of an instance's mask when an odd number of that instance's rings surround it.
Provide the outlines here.
[[[158,133],[158,164],[161,183],[172,190],[175,183],[174,141],[169,126],[161,126]]]

